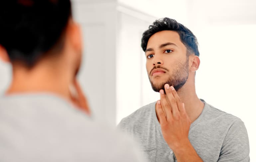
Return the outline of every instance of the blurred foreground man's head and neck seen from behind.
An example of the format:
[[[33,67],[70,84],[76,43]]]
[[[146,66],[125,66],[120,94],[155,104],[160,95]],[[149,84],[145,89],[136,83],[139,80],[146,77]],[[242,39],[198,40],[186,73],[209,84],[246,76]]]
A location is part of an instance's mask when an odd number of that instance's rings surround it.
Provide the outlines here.
[[[6,94],[45,91],[70,99],[81,53],[70,0],[0,2],[0,56],[13,68]]]

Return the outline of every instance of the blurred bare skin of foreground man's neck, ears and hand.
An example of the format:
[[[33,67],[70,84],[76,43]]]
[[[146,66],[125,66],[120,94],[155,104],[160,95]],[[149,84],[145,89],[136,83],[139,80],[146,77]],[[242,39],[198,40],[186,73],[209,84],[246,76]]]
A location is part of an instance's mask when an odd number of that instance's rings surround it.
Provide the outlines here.
[[[81,31],[80,26],[71,18],[68,21],[64,39],[64,47],[60,53],[48,54],[48,57],[40,59],[31,69],[21,63],[12,62],[12,81],[6,95],[34,92],[53,93],[90,114],[86,97],[76,80],[82,54]],[[0,57],[4,62],[10,63],[6,50],[2,46],[0,46]],[[70,85],[76,91],[76,95],[72,95],[70,92]]]

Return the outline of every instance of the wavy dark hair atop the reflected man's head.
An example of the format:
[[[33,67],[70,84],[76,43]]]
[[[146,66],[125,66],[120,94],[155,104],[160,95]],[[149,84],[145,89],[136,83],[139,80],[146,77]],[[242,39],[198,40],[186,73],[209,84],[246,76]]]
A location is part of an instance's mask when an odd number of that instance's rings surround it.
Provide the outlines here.
[[[153,25],[149,26],[148,30],[144,31],[141,39],[141,47],[144,52],[146,51],[149,38],[156,32],[163,30],[177,31],[181,42],[187,47],[188,52],[199,56],[198,43],[194,34],[187,27],[170,18],[156,20]]]

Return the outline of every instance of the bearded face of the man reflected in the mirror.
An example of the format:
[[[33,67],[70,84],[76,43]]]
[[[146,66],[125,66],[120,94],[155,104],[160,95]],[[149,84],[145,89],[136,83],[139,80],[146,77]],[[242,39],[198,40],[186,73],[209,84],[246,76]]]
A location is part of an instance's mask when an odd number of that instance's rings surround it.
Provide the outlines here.
[[[154,91],[167,83],[178,91],[189,76],[189,56],[176,31],[159,31],[149,38],[146,68]]]

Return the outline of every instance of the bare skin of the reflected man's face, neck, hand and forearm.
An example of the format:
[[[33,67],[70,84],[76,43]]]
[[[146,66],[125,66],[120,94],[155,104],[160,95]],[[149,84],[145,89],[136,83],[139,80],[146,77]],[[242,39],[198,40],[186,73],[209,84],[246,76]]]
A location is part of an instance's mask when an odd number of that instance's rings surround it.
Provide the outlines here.
[[[200,64],[199,57],[193,53],[188,56],[179,34],[170,30],[152,35],[145,54],[152,87],[160,89],[156,114],[165,141],[179,162],[186,162],[188,159],[190,162],[202,161],[188,138],[191,123],[204,107],[195,93],[194,80],[195,71]],[[158,66],[165,70],[152,75],[152,69]],[[178,91],[174,87],[178,87]]]

